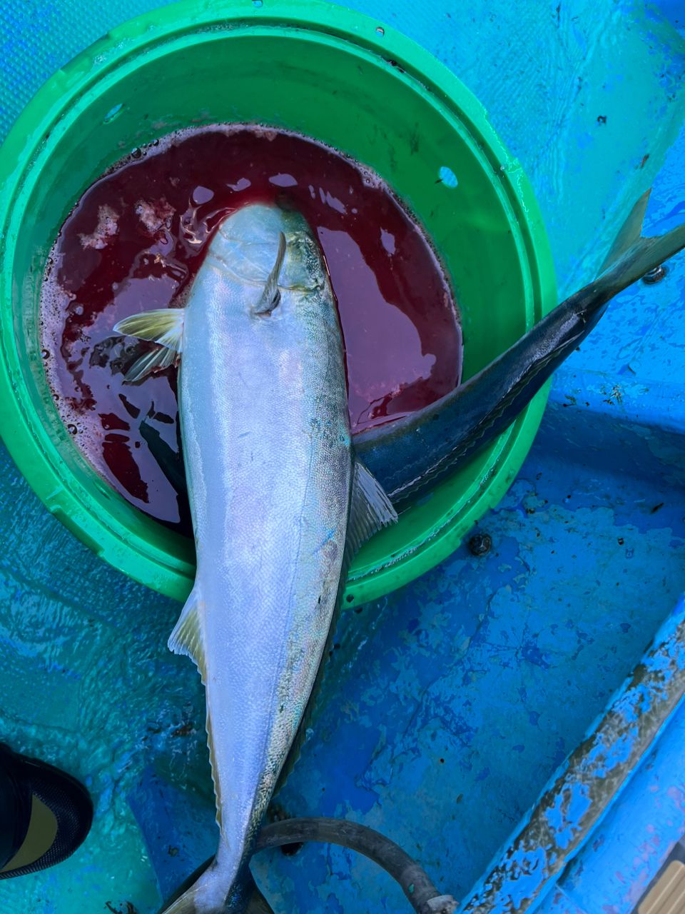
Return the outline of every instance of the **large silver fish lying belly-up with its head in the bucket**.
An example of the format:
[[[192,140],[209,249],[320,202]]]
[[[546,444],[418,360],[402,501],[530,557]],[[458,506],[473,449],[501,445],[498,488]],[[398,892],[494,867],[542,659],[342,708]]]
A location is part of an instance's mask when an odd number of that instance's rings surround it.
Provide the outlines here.
[[[132,314],[114,331],[159,344],[129,382],[180,362],[197,569],[169,647],[205,685],[219,840],[166,910],[243,911],[251,848],[304,732],[347,569],[397,515],[353,455],[336,303],[300,213],[238,209],[184,308]]]

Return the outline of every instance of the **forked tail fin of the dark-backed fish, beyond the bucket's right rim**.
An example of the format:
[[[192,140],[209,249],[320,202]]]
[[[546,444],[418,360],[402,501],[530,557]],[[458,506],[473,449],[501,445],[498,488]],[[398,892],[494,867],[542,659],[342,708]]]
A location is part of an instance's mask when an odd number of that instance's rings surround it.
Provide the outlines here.
[[[671,228],[664,235],[644,238],[642,224],[649,200],[649,193],[643,194],[631,209],[617,239],[611,246],[600,268],[598,284],[606,286],[610,296],[616,295],[633,282],[655,270],[679,250],[685,248],[685,223]]]

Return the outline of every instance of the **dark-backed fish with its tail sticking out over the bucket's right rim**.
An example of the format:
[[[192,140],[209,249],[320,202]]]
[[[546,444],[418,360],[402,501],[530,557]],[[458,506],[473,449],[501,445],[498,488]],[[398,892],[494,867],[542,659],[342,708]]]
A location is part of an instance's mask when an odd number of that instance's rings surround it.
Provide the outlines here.
[[[506,430],[595,328],[618,292],[685,248],[685,225],[641,236],[649,191],[639,198],[598,276],[546,314],[477,375],[403,419],[353,435],[353,449],[398,511],[454,473]],[[165,455],[148,441],[163,466]]]

